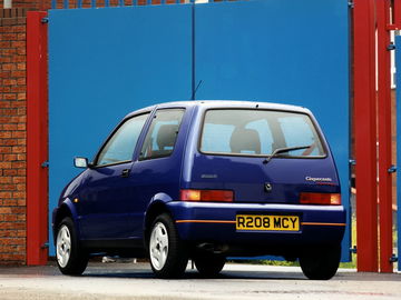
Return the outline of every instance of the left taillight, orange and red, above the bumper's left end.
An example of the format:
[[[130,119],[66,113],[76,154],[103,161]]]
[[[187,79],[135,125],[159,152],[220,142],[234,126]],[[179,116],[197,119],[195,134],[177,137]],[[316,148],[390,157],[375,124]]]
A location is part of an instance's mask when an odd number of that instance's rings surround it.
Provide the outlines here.
[[[234,192],[227,190],[180,190],[179,200],[197,202],[233,202]]]

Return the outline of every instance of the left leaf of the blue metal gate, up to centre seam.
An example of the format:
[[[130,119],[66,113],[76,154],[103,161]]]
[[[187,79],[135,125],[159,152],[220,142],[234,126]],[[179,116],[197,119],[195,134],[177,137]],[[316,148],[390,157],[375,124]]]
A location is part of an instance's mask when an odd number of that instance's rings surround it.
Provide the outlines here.
[[[49,11],[50,211],[79,171],[72,158],[92,158],[125,114],[190,98],[190,16],[188,6]]]

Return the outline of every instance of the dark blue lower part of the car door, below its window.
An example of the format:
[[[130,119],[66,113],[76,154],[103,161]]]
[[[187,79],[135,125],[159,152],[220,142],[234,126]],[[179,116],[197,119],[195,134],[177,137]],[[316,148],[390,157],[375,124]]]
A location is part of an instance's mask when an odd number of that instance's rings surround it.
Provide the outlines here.
[[[121,177],[131,162],[89,169],[79,192],[82,239],[129,238],[136,228],[136,203],[131,201],[136,182]]]

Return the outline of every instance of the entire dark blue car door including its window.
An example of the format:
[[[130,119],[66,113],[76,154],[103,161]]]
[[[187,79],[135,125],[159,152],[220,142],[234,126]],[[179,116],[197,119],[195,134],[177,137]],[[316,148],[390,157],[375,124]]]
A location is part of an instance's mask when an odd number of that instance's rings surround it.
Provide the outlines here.
[[[79,209],[82,239],[133,238],[133,157],[148,117],[149,113],[143,113],[123,121],[87,171]]]

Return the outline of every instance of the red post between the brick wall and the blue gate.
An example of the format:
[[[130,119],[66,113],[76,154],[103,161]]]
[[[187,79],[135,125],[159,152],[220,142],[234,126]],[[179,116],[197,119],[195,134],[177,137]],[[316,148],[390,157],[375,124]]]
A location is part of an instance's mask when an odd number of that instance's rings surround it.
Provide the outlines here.
[[[27,264],[48,259],[48,92],[46,12],[27,17]]]

